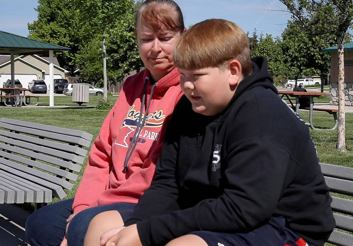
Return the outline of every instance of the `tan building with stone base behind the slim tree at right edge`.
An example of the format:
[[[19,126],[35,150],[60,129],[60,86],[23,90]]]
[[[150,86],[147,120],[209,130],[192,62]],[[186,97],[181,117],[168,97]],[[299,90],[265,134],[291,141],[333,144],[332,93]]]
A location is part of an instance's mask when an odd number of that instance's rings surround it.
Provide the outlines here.
[[[331,53],[330,104],[338,105],[338,50],[337,46],[322,50]],[[345,66],[345,105],[353,106],[353,42],[343,46]]]

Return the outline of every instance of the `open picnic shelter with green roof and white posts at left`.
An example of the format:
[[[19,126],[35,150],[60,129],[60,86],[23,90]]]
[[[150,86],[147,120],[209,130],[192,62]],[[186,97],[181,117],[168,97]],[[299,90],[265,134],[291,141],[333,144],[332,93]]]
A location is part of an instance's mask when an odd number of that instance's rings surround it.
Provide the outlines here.
[[[10,55],[11,86],[14,86],[14,56],[46,54],[49,52],[49,88],[54,88],[54,52],[68,51],[70,48],[32,38],[0,31],[0,55]],[[49,90],[49,106],[54,106],[54,90]]]

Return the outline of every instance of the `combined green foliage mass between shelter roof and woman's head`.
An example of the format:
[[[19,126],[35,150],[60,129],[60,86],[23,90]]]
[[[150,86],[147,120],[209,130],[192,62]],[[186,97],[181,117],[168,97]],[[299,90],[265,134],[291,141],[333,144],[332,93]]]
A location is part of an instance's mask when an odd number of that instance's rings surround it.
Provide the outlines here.
[[[106,35],[110,83],[143,66],[134,36],[133,0],[38,0],[38,18],[28,24],[29,37],[71,48],[57,53],[71,74],[97,84],[103,78],[102,36]]]

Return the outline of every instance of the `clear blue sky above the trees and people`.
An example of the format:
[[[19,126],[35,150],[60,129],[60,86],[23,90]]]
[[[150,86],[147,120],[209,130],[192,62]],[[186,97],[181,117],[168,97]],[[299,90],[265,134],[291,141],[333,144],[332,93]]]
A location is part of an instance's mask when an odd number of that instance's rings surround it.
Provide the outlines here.
[[[265,8],[285,8],[278,0],[175,0],[184,14],[185,26],[208,18],[228,19],[250,34],[281,35],[289,16],[267,13]],[[37,19],[37,0],[0,0],[0,30],[27,36],[27,23]]]

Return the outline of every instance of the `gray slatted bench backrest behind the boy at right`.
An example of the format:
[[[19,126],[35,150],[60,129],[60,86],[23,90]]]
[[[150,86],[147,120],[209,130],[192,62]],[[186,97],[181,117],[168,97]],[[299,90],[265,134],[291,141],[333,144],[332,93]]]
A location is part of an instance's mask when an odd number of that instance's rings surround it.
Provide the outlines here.
[[[353,168],[320,163],[326,184],[330,188],[336,228],[328,242],[339,246],[353,245]]]

